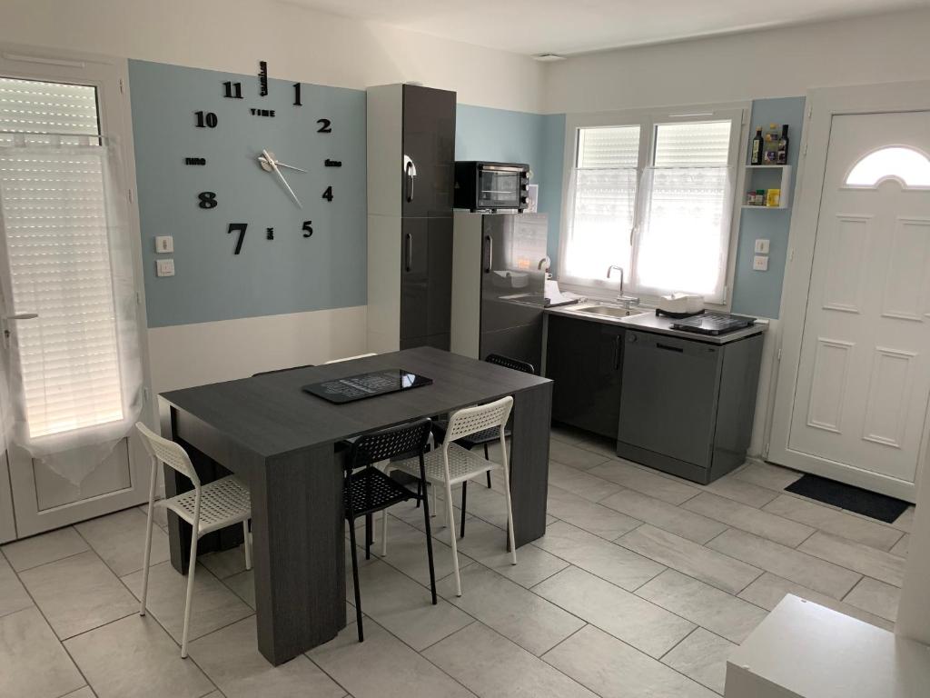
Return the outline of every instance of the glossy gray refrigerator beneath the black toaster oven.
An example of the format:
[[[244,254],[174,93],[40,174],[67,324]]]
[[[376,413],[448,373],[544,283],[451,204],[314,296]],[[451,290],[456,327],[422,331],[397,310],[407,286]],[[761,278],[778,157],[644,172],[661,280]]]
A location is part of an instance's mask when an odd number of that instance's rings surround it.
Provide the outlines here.
[[[539,370],[549,222],[541,213],[456,211],[451,350],[500,354]]]

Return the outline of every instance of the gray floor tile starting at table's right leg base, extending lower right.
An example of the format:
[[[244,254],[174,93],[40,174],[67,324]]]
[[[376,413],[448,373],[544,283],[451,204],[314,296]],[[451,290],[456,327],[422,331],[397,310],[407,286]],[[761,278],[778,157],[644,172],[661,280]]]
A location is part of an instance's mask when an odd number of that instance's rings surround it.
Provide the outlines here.
[[[628,591],[665,569],[658,562],[564,521],[546,527],[546,535],[533,544]]]

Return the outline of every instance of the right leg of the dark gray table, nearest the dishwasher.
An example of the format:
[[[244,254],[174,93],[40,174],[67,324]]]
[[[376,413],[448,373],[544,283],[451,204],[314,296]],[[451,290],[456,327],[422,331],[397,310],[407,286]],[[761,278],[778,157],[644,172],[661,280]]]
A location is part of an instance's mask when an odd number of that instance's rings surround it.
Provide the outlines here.
[[[552,383],[513,396],[511,497],[517,547],[546,533]]]

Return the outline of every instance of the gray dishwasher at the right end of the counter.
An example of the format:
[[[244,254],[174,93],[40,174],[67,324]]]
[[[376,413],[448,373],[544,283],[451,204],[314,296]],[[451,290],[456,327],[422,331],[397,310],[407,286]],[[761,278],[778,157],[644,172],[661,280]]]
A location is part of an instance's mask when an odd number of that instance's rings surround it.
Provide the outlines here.
[[[618,456],[705,485],[744,463],[762,346],[762,334],[711,344],[628,329]]]

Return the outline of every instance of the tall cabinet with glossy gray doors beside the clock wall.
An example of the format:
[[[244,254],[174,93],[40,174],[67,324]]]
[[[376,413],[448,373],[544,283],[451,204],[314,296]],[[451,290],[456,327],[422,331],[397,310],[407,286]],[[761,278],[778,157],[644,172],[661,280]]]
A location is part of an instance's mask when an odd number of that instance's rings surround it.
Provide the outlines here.
[[[456,93],[367,90],[368,348],[449,348]]]

